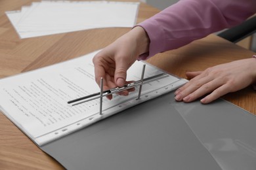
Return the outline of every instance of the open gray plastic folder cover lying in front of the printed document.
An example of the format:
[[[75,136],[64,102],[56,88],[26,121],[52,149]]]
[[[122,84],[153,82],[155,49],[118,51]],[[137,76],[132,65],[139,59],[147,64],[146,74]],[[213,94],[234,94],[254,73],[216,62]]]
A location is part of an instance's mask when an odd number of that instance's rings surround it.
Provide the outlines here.
[[[41,149],[66,169],[256,169],[255,129],[255,116],[222,99],[182,103],[167,93]]]

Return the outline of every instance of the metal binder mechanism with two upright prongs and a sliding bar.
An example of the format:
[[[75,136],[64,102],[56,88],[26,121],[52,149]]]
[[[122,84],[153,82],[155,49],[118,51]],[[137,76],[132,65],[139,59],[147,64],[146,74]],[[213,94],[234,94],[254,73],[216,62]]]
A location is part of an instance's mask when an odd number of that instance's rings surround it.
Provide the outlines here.
[[[122,91],[128,90],[130,88],[135,88],[136,86],[140,86],[138,97],[137,97],[137,99],[140,99],[140,94],[142,91],[143,84],[146,84],[146,83],[151,82],[152,80],[156,80],[158,78],[164,78],[165,76],[168,76],[166,73],[161,73],[159,75],[154,75],[154,76],[150,76],[148,78],[144,78],[145,67],[146,67],[146,65],[144,64],[143,68],[142,68],[140,80],[131,82],[129,84],[125,84],[125,86],[123,86],[123,87],[116,87],[116,88],[112,88],[110,90],[103,91],[103,78],[100,78],[100,92],[93,93],[93,94],[87,95],[85,97],[80,97],[80,98],[74,99],[72,101],[68,101],[68,104],[70,104],[71,106],[75,106],[75,105],[79,105],[81,103],[85,103],[87,101],[92,101],[92,100],[100,98],[100,115],[102,115],[102,97],[105,97],[107,95],[111,95],[114,93],[122,92]]]

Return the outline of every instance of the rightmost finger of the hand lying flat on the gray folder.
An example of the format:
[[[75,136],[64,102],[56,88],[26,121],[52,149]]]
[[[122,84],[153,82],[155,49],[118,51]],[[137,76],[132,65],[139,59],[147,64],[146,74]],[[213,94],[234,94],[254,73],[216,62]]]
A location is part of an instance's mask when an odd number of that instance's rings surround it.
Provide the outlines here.
[[[214,90],[209,95],[205,96],[200,101],[203,104],[207,104],[207,103],[210,103],[211,101],[214,101],[215,99],[218,99],[219,97],[221,97],[229,92],[230,92],[230,86],[228,84],[223,84],[223,86],[220,86],[219,88]]]

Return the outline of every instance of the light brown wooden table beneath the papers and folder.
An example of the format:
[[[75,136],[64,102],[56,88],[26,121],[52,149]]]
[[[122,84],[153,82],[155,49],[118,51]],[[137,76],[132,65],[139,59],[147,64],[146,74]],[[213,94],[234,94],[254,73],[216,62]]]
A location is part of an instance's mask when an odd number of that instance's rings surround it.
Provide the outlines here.
[[[30,39],[19,39],[5,11],[18,10],[32,0],[0,1],[0,78],[76,58],[110,44],[129,28],[91,29]],[[159,12],[140,4],[137,22]],[[198,71],[235,59],[251,58],[253,52],[215,35],[156,55],[150,63],[184,77],[186,71]],[[185,78],[185,77],[184,77]],[[224,99],[256,114],[256,94],[251,87],[230,93]],[[0,169],[63,169],[41,151],[22,131],[0,114]]]

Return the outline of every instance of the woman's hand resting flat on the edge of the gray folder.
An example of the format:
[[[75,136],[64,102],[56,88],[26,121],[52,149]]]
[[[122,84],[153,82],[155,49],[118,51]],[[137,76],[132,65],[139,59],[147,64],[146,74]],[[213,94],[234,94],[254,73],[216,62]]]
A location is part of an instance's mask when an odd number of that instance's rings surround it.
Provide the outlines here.
[[[190,102],[206,95],[201,103],[210,103],[229,92],[236,92],[256,81],[256,59],[242,59],[205,69],[187,72],[191,79],[175,92],[177,101]]]

